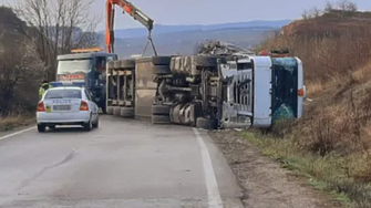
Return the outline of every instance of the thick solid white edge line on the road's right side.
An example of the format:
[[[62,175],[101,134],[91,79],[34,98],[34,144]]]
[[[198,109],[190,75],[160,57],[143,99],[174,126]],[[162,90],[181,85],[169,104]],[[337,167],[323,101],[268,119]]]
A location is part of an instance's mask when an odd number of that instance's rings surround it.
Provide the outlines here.
[[[193,132],[196,135],[198,146],[200,148],[203,164],[204,164],[204,174],[206,180],[206,190],[208,198],[208,207],[209,208],[223,208],[223,202],[219,194],[218,183],[216,181],[213,163],[210,159],[210,155],[205,145],[204,139],[199,135],[197,128],[193,128]]]

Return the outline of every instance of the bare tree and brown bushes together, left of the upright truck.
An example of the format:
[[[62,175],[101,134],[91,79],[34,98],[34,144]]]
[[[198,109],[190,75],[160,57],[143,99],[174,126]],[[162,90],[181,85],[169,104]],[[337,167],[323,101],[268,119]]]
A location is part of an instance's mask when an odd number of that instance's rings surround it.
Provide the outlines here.
[[[102,18],[90,13],[92,3],[20,0],[0,7],[0,117],[34,112],[38,89],[54,80],[59,54],[99,45]]]

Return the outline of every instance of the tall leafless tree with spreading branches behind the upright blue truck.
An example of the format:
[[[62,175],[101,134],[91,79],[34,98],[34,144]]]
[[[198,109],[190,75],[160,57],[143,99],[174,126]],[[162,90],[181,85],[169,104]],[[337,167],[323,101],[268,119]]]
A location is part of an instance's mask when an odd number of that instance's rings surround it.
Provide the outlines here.
[[[38,52],[48,66],[45,79],[54,79],[56,55],[71,49],[96,46],[94,32],[99,17],[90,14],[94,0],[21,0],[16,13],[30,25],[30,37],[38,37]]]

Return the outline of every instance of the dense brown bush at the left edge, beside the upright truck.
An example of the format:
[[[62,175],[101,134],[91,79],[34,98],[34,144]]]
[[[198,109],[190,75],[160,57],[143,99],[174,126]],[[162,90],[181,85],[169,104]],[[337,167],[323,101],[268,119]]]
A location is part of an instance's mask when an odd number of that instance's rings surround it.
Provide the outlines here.
[[[34,104],[44,70],[34,44],[29,40],[13,48],[0,45],[0,116],[13,112],[19,104]],[[21,92],[22,96],[17,96],[16,92]]]

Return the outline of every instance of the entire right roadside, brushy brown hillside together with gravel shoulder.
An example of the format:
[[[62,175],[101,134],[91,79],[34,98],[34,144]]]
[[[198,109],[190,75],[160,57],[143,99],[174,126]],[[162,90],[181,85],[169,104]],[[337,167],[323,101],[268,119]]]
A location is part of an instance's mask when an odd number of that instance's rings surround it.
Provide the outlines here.
[[[371,12],[333,10],[284,27],[257,49],[288,48],[300,58],[310,101],[302,118],[269,134],[212,133],[246,188],[247,206],[340,206],[328,199],[333,196],[344,206],[371,207],[370,37]]]

